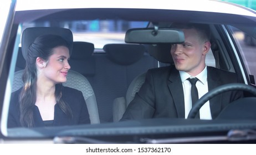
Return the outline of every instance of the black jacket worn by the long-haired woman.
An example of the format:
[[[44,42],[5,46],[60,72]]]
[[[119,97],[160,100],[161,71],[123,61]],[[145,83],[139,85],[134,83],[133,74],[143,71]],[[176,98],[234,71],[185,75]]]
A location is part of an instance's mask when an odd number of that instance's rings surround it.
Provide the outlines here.
[[[19,112],[19,94],[22,89],[12,93],[9,106],[8,127],[21,127],[20,112]],[[63,100],[69,105],[73,112],[73,118],[69,118],[60,109],[59,105],[54,106],[54,122],[53,126],[78,125],[90,123],[89,113],[85,104],[83,93],[79,90],[70,87],[62,88]],[[40,115],[39,109],[34,105],[34,124],[35,127],[44,126],[44,122]]]

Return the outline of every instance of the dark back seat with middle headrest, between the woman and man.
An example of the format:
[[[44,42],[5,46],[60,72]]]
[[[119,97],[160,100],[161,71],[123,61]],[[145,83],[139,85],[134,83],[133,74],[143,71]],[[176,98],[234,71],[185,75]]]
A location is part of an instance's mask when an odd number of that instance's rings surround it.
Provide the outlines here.
[[[105,44],[105,52],[94,53],[96,74],[88,77],[94,87],[100,122],[113,122],[113,100],[125,96],[137,75],[157,66],[157,61],[140,44]]]

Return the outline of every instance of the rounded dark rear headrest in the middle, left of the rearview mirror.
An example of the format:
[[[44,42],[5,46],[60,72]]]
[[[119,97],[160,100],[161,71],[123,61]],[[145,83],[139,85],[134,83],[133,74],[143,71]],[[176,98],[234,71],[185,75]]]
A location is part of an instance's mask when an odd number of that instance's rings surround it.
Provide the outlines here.
[[[103,47],[107,57],[120,65],[131,65],[139,61],[146,48],[139,44],[106,44]]]

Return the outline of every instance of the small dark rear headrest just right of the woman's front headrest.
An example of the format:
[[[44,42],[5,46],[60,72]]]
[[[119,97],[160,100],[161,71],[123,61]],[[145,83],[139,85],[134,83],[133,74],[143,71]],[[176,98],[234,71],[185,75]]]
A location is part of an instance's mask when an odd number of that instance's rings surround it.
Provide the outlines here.
[[[70,59],[86,59],[90,58],[94,52],[94,44],[88,42],[74,42],[73,52]]]

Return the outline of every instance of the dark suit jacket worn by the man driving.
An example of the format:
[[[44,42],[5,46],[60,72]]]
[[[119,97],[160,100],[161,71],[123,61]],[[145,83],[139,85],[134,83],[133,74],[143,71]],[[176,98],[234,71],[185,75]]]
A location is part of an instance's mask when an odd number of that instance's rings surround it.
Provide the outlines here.
[[[234,73],[207,66],[208,90],[223,84],[238,82]],[[234,100],[243,97],[241,91],[230,91],[209,100],[212,118]],[[180,73],[175,66],[150,69],[144,84],[127,107],[121,120],[142,118],[185,118],[185,101]]]

